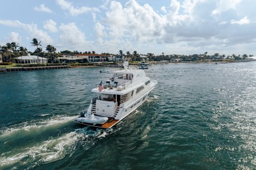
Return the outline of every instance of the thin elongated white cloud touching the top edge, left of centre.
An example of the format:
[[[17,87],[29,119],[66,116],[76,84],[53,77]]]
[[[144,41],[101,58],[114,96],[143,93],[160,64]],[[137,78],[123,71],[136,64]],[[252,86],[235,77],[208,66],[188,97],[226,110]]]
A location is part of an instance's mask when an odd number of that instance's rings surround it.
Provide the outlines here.
[[[80,14],[90,13],[90,12],[100,12],[98,8],[89,8],[89,7],[74,7],[71,2],[65,0],[56,0],[56,3],[61,6],[62,10],[67,10],[71,16],[78,16]]]

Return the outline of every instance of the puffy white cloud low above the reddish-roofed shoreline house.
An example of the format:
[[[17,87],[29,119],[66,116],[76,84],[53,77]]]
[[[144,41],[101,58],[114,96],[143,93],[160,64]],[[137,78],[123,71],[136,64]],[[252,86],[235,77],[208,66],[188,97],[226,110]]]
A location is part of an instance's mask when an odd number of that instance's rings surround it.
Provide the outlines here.
[[[61,35],[59,36],[61,45],[64,47],[82,46],[85,48],[85,34],[79,30],[75,23],[61,24],[59,30],[61,30]]]

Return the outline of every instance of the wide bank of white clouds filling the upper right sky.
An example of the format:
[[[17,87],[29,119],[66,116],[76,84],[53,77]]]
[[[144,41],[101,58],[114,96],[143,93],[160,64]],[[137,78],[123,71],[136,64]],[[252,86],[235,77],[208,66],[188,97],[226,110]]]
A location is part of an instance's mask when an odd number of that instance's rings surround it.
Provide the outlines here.
[[[109,5],[109,10],[106,11],[105,18],[101,16],[103,19],[97,21],[100,27],[96,29],[95,26],[95,30],[98,36],[102,36],[104,32],[109,39],[128,39],[132,44],[179,43],[184,49],[189,47],[191,51],[200,50],[198,45],[205,49],[222,49],[242,41],[255,42],[256,35],[252,30],[256,23],[249,17],[240,19],[239,16],[246,11],[246,5],[243,7],[242,2],[171,0],[169,5],[161,7],[164,12],[162,15],[149,4],[140,5],[135,0],[129,0],[125,5],[111,1],[104,4],[106,9],[106,5]],[[240,27],[234,27],[237,24],[251,24],[252,27],[243,27],[247,30],[244,32]]]

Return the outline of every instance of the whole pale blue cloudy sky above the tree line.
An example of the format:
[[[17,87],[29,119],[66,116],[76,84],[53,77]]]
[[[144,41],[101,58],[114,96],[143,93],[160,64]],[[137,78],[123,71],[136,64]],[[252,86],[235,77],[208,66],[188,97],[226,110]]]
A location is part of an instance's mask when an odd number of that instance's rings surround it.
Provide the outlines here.
[[[8,0],[0,45],[34,52],[256,55],[255,0]]]

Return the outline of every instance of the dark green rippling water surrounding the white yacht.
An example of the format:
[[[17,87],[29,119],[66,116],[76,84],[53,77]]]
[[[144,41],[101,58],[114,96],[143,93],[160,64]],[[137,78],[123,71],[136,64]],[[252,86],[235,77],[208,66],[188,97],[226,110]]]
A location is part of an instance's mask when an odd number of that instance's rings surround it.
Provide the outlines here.
[[[116,68],[0,74],[0,169],[255,169],[256,62],[163,64],[112,129],[74,123]]]

